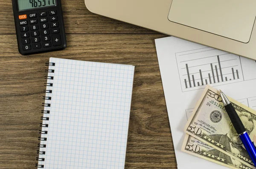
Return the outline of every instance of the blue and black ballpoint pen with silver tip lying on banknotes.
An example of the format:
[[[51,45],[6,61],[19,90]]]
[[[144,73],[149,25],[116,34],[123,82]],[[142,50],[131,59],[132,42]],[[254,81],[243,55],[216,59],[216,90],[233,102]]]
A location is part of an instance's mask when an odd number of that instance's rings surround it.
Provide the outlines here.
[[[250,137],[246,129],[244,128],[244,125],[241,119],[236,113],[236,110],[234,109],[234,107],[232,106],[232,103],[230,103],[226,95],[224,95],[224,93],[221,90],[220,90],[220,95],[221,95],[222,103],[224,104],[227,114],[230,117],[231,123],[236,129],[236,132],[239,135],[242,143],[244,144],[244,147],[248,152],[251,160],[253,161],[254,165],[256,165],[256,149],[252,141],[250,140]]]

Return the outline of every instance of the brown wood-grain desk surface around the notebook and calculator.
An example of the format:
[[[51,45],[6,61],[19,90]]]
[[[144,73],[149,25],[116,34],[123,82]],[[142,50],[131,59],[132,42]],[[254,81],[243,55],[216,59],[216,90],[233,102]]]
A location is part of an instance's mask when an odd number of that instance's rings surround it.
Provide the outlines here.
[[[0,169],[34,169],[49,57],[135,66],[125,169],[176,169],[154,39],[167,35],[62,0],[67,48],[22,56],[11,0],[0,0]]]

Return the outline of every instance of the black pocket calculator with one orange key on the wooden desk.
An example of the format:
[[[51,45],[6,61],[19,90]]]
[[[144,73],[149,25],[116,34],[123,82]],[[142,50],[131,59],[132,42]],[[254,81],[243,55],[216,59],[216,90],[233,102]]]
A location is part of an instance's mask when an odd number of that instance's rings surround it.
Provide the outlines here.
[[[61,0],[12,0],[20,54],[65,49]]]

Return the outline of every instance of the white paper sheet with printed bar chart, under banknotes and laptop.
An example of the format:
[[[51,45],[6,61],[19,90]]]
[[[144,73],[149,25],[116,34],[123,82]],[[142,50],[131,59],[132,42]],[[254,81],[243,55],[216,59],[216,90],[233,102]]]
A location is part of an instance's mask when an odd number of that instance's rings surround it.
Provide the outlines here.
[[[256,109],[256,62],[176,37],[155,42],[178,169],[226,169],[181,152],[184,126],[207,84]]]

